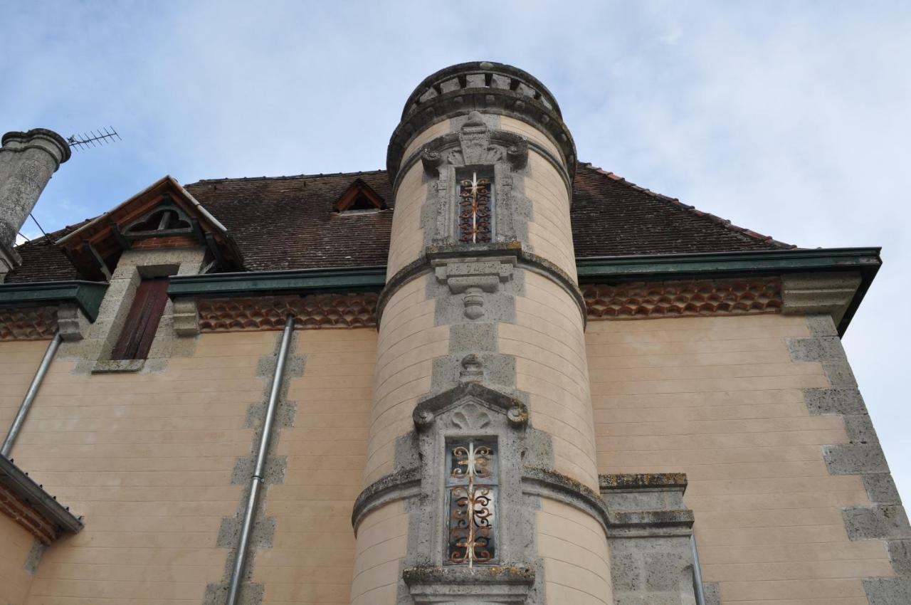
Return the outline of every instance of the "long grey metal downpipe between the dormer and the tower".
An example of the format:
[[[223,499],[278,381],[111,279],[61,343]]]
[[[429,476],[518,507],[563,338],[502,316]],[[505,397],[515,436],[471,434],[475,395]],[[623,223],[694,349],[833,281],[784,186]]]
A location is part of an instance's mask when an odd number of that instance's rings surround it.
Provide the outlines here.
[[[285,319],[284,332],[281,333],[281,346],[278,359],[275,362],[275,374],[272,376],[272,385],[269,391],[269,403],[266,405],[266,417],[262,421],[262,435],[260,447],[256,453],[256,464],[250,478],[250,497],[247,498],[247,508],[243,512],[243,525],[241,525],[241,538],[237,544],[237,556],[234,559],[234,569],[231,570],[228,600],[226,605],[236,605],[241,591],[241,578],[243,568],[247,564],[247,550],[250,547],[250,535],[253,529],[253,518],[256,514],[256,503],[260,497],[263,473],[266,467],[266,458],[269,456],[269,441],[272,436],[272,421],[275,418],[275,409],[278,407],[281,395],[281,381],[284,378],[284,368],[288,361],[288,349],[291,347],[291,338],[294,333],[294,316],[288,315]]]

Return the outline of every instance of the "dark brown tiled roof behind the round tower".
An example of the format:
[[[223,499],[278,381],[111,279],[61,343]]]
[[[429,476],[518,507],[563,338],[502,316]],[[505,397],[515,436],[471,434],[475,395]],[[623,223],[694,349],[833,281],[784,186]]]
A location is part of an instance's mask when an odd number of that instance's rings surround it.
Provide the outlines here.
[[[363,179],[389,210],[336,212]],[[292,177],[200,180],[186,186],[233,235],[250,271],[384,265],[393,200],[384,170]],[[736,227],[617,175],[579,164],[571,210],[576,255],[623,256],[793,248]],[[51,234],[56,240],[78,225]],[[24,264],[7,282],[78,279],[44,238],[17,248]]]

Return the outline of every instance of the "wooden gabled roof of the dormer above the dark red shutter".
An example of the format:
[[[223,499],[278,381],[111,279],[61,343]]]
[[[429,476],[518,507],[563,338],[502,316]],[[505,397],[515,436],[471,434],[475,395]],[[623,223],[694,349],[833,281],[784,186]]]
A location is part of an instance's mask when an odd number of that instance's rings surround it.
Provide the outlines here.
[[[217,271],[241,271],[228,230],[166,176],[56,242],[87,279],[110,279],[125,250],[205,247]]]

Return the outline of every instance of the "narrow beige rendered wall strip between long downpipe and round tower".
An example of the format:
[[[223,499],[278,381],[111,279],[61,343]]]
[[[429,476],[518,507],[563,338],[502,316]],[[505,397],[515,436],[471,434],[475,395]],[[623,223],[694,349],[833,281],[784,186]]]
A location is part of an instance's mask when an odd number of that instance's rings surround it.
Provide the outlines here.
[[[363,487],[376,335],[369,328],[297,333],[304,372],[288,390],[297,414],[275,451],[287,456],[287,469],[266,498],[275,536],[253,568],[253,581],[265,584],[263,605],[349,602],[351,511]]]

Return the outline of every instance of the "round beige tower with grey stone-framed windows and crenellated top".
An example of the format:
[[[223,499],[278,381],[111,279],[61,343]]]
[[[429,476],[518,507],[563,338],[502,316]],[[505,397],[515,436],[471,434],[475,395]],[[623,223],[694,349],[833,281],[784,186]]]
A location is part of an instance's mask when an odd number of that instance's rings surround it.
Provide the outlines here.
[[[575,165],[516,67],[447,67],[405,103],[353,603],[612,602]]]

